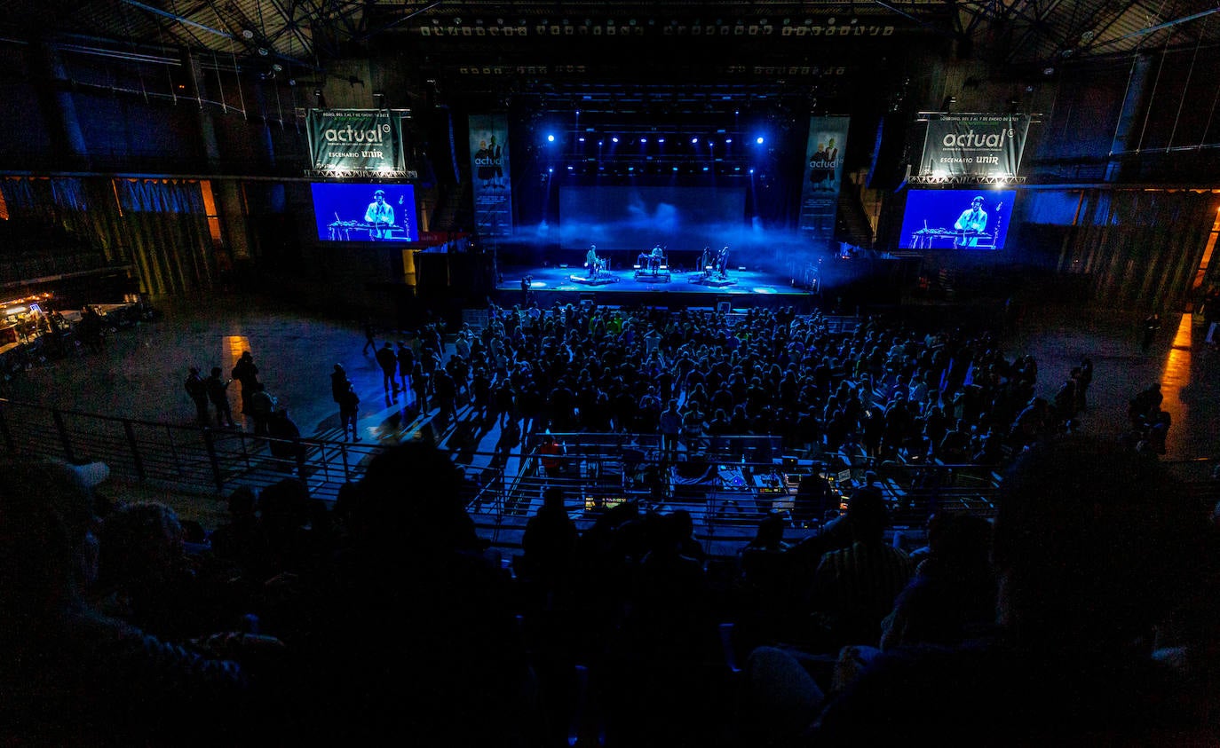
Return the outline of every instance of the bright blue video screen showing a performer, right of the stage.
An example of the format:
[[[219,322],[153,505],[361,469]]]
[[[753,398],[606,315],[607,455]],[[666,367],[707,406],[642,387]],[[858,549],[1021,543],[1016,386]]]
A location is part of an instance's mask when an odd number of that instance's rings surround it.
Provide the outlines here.
[[[1002,250],[1015,199],[1016,190],[910,190],[898,246]]]

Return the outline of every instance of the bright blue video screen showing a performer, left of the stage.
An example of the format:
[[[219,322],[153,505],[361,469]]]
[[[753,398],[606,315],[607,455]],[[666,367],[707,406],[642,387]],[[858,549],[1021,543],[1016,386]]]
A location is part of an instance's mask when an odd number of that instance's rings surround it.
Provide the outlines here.
[[[315,182],[314,217],[322,241],[418,241],[410,184]],[[377,200],[377,192],[383,200]]]

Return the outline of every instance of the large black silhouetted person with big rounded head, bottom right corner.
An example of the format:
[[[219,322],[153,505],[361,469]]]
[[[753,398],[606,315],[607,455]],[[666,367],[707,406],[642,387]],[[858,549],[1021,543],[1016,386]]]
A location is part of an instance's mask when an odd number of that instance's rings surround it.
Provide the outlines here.
[[[1214,693],[1147,643],[1200,588],[1208,532],[1154,460],[1033,446],[999,489],[998,636],[881,654],[827,707],[819,744],[1213,744]]]

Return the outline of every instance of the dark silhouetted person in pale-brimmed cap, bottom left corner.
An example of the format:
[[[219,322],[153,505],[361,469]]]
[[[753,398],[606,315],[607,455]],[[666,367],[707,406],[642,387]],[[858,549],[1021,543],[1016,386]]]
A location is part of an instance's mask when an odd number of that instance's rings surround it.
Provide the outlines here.
[[[240,666],[89,603],[93,502],[67,465],[0,462],[0,742],[238,742],[235,726],[251,714],[243,704],[254,697]]]

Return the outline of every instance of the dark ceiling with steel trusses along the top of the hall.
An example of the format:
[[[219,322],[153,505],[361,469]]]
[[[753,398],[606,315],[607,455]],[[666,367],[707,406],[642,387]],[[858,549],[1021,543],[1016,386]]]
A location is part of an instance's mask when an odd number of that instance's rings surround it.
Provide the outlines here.
[[[1214,44],[1220,41],[1216,11],[1216,0],[0,0],[0,34],[17,41],[207,50],[316,69],[370,45],[427,43],[433,54],[445,54],[522,39],[534,48],[566,40],[586,54],[614,55],[631,44],[623,38],[665,50],[699,37],[781,54],[784,41],[788,49],[810,46],[833,32],[834,41],[844,43],[867,39],[867,29],[892,28],[899,38],[947,39],[956,54],[1003,67]]]

